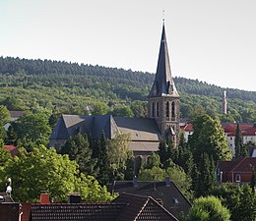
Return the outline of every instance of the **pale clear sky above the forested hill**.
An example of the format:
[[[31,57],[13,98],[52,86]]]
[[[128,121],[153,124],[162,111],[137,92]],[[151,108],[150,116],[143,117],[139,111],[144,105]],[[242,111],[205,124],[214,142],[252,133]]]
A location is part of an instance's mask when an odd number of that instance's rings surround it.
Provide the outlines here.
[[[255,0],[0,0],[0,56],[155,73],[162,10],[173,77],[256,91]]]

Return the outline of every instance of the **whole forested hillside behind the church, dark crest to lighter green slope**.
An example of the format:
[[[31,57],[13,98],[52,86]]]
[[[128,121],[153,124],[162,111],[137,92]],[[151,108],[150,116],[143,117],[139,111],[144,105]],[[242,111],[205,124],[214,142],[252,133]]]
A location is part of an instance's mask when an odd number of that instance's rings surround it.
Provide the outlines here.
[[[87,105],[94,106],[96,101],[104,101],[110,111],[113,105],[121,103],[130,106],[137,116],[136,108],[138,109],[138,105],[141,107],[142,102],[146,101],[154,78],[153,74],[131,70],[51,60],[0,57],[0,102],[11,96],[20,102],[20,109],[37,103],[64,106],[73,113],[78,112],[77,108],[83,109]],[[188,112],[195,108],[195,104],[207,113],[220,113],[224,90],[227,91],[229,109],[235,115],[241,115],[243,108],[249,108],[250,111],[256,109],[256,91],[223,88],[184,78],[174,78],[174,82],[181,94],[183,117],[189,117]],[[11,108],[19,109],[14,106]],[[145,113],[139,114],[143,115]]]

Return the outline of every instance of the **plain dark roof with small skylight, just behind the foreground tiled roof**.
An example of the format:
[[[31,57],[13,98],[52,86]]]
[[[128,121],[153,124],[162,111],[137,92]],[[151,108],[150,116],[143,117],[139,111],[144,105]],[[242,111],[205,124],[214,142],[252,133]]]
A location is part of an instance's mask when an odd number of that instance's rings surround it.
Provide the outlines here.
[[[133,181],[115,181],[109,191],[111,193],[152,196],[156,200],[162,201],[163,207],[173,215],[178,216],[181,212],[188,214],[191,203],[173,182],[137,181],[137,184],[138,187],[135,187]],[[175,203],[175,198],[178,203]]]

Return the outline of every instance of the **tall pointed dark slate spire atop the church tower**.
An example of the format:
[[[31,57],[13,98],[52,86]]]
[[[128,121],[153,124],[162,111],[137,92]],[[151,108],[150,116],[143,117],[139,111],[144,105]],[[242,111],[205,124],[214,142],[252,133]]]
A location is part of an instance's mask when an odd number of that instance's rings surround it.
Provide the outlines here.
[[[160,38],[160,54],[155,82],[149,97],[173,96],[179,97],[173,79],[171,77],[167,41],[165,35],[164,21]]]

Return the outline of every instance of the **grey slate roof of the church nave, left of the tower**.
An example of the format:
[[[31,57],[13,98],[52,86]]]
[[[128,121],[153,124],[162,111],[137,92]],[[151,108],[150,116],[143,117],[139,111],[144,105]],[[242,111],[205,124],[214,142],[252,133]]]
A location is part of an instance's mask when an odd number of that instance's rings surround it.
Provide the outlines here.
[[[93,138],[100,138],[104,132],[106,138],[117,134],[129,134],[129,148],[133,151],[157,151],[160,131],[154,119],[102,116],[62,115],[54,128],[50,139],[68,139],[80,132]]]

